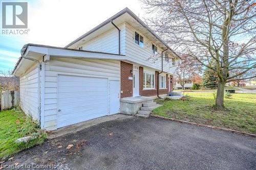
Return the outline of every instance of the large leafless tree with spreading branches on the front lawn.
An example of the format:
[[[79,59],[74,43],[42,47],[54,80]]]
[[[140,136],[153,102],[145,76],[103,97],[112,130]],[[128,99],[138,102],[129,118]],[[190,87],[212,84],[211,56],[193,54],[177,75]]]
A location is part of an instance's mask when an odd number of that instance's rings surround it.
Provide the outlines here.
[[[176,53],[193,57],[218,76],[218,109],[224,109],[226,83],[256,77],[239,77],[256,67],[255,1],[141,1],[154,16],[146,19],[148,26]]]

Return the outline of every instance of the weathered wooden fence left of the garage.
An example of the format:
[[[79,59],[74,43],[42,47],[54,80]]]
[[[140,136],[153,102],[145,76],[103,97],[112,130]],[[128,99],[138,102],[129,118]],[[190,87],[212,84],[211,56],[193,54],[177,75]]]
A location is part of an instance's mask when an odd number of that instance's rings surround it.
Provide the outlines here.
[[[0,110],[10,109],[19,103],[19,91],[3,91],[0,95]]]

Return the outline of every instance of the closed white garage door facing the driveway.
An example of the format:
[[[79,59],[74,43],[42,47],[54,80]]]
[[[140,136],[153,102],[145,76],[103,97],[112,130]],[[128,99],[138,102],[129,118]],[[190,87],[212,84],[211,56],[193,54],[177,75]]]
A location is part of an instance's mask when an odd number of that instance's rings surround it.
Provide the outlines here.
[[[108,79],[58,76],[57,128],[108,114]]]

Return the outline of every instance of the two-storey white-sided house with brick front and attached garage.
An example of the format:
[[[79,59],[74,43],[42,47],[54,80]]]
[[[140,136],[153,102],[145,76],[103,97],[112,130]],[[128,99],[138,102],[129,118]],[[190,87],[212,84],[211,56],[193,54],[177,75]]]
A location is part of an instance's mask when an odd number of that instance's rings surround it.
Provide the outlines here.
[[[172,65],[178,56],[127,8],[64,48],[27,44],[13,71],[22,109],[55,130],[119,113],[120,98],[167,94],[175,66],[148,60],[164,50]]]

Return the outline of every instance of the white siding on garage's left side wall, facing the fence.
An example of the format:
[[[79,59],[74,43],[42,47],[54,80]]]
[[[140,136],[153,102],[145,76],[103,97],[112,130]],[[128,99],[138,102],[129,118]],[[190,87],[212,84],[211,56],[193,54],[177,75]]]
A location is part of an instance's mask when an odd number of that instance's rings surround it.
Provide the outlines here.
[[[39,78],[40,79],[40,78]],[[20,107],[22,110],[39,121],[38,112],[38,67],[34,64],[19,78],[20,81]],[[38,122],[39,123],[39,122]]]

